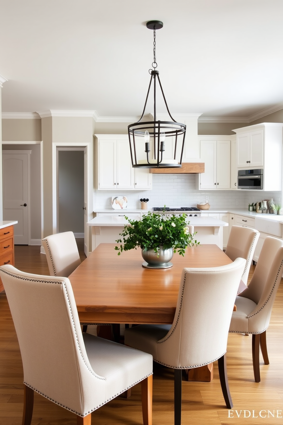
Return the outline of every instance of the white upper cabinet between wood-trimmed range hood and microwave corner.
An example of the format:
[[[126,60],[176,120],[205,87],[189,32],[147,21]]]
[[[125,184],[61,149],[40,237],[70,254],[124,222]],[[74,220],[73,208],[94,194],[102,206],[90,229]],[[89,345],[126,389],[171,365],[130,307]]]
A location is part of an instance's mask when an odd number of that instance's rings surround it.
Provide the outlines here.
[[[197,174],[196,189],[230,189],[230,146],[227,136],[200,136],[200,156],[205,172]]]

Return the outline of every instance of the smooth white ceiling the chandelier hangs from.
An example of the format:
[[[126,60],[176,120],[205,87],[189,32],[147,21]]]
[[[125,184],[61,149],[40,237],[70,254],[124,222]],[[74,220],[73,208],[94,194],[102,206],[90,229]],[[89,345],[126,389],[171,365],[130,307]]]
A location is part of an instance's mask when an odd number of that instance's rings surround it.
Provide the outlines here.
[[[282,0],[0,0],[3,116],[139,116],[153,62],[146,22],[155,19],[172,115],[251,121],[283,108],[282,17]]]

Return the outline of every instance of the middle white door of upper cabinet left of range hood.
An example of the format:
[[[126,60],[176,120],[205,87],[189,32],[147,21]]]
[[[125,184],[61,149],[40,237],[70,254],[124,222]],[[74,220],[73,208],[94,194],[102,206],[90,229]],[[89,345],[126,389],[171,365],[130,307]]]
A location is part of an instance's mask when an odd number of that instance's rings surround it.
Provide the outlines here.
[[[117,140],[117,189],[134,189],[129,140]]]

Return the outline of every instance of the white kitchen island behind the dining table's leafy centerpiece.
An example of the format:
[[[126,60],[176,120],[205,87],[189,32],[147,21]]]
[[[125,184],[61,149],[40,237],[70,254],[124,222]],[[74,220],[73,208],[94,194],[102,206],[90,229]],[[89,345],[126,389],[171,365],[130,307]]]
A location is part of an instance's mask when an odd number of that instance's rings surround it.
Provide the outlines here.
[[[138,219],[131,218],[134,220]],[[92,251],[103,243],[115,243],[127,224],[124,215],[105,215],[92,218],[87,225],[92,228]],[[223,227],[229,224],[214,217],[188,217],[200,244],[215,244],[223,249]]]

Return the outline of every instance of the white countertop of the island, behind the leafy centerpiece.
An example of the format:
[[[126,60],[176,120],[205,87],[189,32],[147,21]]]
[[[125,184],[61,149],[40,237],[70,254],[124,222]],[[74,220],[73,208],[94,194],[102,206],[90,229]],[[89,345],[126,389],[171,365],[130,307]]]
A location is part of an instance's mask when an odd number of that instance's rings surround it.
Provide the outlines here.
[[[143,210],[144,211],[144,210]],[[190,224],[194,227],[222,227],[228,226],[229,224],[225,221],[218,220],[214,217],[188,217]],[[89,226],[115,226],[115,227],[124,227],[128,221],[125,220],[123,216],[102,216],[95,217],[92,220],[88,221]]]

